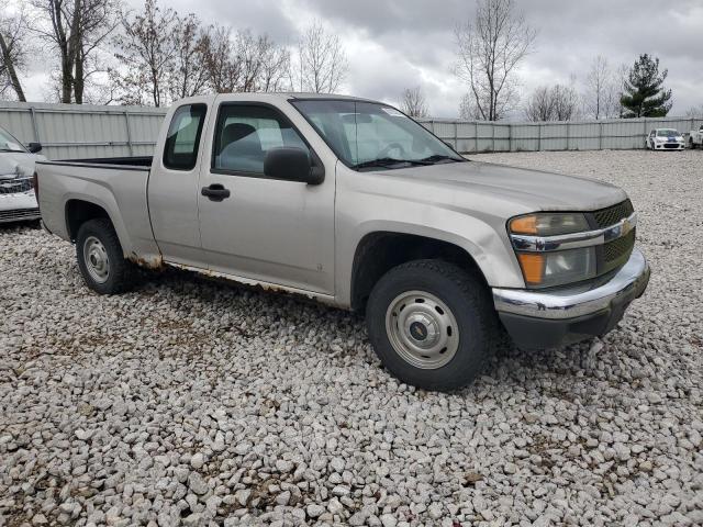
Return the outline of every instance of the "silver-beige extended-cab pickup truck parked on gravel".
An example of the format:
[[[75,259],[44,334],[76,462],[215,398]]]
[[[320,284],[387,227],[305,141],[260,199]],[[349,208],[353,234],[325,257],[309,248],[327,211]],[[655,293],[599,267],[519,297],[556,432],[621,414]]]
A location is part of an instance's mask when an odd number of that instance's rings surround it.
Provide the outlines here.
[[[220,94],[176,103],[153,158],[43,161],[47,231],[87,285],[172,266],[365,314],[401,381],[453,390],[504,330],[542,349],[613,329],[649,267],[605,182],[469,161],[364,99]]]

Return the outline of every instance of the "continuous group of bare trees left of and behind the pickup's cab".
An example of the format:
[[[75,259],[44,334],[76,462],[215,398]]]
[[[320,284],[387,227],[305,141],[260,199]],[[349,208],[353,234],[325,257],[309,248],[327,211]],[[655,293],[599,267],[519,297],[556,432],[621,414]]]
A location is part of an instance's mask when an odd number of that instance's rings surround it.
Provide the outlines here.
[[[20,74],[38,48],[55,53],[47,99],[149,104],[205,93],[299,90],[331,93],[348,70],[337,35],[320,22],[293,46],[267,34],[203,24],[157,0],[0,0],[0,97],[25,101]]]

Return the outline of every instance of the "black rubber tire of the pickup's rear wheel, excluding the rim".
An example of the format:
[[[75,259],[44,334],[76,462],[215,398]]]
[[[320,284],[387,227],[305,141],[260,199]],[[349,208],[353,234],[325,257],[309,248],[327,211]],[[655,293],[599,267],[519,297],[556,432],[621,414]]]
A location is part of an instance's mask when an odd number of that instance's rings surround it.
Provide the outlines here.
[[[96,245],[94,239],[102,245],[107,255],[108,271],[104,281],[96,278],[96,273],[89,270],[91,264],[87,261],[89,258],[86,254],[87,243]],[[134,282],[134,267],[124,259],[118,233],[115,233],[110,220],[89,220],[80,226],[78,236],[76,236],[76,257],[86,285],[100,294],[123,293]],[[94,269],[94,266],[92,267]]]

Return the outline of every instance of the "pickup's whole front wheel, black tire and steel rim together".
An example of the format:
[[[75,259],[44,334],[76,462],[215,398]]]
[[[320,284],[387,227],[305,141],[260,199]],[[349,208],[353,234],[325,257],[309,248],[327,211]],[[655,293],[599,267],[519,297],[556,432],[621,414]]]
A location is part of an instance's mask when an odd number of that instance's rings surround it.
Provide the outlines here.
[[[494,321],[486,285],[440,260],[391,269],[367,306],[369,338],[383,366],[427,390],[462,388],[481,373]]]

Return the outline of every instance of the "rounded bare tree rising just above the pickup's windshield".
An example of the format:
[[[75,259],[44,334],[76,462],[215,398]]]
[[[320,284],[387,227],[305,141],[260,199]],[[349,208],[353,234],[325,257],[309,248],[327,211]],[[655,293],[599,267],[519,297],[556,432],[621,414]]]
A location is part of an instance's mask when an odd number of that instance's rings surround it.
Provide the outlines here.
[[[298,76],[300,91],[333,93],[339,89],[349,68],[347,55],[337,35],[315,22],[303,33],[298,45]]]

